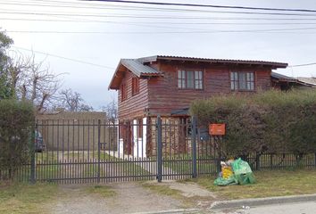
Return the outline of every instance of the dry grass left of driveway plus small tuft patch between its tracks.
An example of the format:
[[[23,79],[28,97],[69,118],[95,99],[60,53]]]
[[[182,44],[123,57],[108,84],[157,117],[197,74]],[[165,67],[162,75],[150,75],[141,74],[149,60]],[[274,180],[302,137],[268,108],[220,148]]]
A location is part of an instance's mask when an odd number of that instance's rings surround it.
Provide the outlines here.
[[[73,187],[72,187],[73,188]],[[93,195],[109,198],[116,195],[106,185],[79,186],[80,195]],[[54,184],[37,185],[0,183],[0,213],[10,214],[46,214],[57,199],[67,200],[73,195],[64,193],[67,189]]]

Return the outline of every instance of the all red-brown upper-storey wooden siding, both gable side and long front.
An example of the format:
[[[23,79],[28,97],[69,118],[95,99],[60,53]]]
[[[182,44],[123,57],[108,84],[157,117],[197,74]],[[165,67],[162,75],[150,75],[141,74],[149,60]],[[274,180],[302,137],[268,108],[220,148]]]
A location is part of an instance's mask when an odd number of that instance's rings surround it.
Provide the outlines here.
[[[141,78],[139,94],[132,95],[131,78],[135,76],[127,71],[121,84],[126,84],[128,98],[121,102],[121,91],[119,90],[119,119],[135,119],[157,114],[168,116],[173,110],[187,108],[195,99],[229,94],[232,92],[230,90],[230,71],[254,71],[254,92],[271,87],[271,70],[261,66],[214,66],[211,63],[170,61],[148,63],[147,65],[161,70],[163,77]],[[203,71],[204,88],[202,90],[178,88],[178,70]]]

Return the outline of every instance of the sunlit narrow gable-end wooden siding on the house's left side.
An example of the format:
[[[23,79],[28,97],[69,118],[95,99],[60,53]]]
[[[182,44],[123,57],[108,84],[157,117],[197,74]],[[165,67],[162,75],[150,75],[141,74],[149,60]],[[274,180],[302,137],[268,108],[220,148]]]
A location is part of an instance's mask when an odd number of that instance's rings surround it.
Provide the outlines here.
[[[134,74],[127,71],[121,84],[126,84],[127,99],[121,101],[121,90],[118,90],[119,119],[135,119],[145,115],[145,109],[148,107],[148,88],[147,79],[139,79],[139,93],[132,95],[132,78]]]

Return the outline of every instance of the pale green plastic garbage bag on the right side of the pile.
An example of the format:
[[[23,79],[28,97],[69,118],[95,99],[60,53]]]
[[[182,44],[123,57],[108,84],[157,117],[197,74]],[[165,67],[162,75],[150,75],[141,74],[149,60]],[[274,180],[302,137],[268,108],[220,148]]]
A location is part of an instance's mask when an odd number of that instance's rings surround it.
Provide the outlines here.
[[[255,183],[254,173],[246,161],[239,158],[231,163],[231,167],[237,184],[248,185]]]

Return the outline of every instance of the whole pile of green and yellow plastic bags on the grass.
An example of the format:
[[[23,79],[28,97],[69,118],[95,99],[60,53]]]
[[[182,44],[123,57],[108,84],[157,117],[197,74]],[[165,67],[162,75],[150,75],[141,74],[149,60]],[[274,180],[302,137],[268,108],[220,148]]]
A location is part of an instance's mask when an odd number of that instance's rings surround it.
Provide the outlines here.
[[[220,165],[220,177],[214,181],[214,185],[248,185],[255,183],[254,173],[246,161],[239,158],[235,161],[221,162]]]

